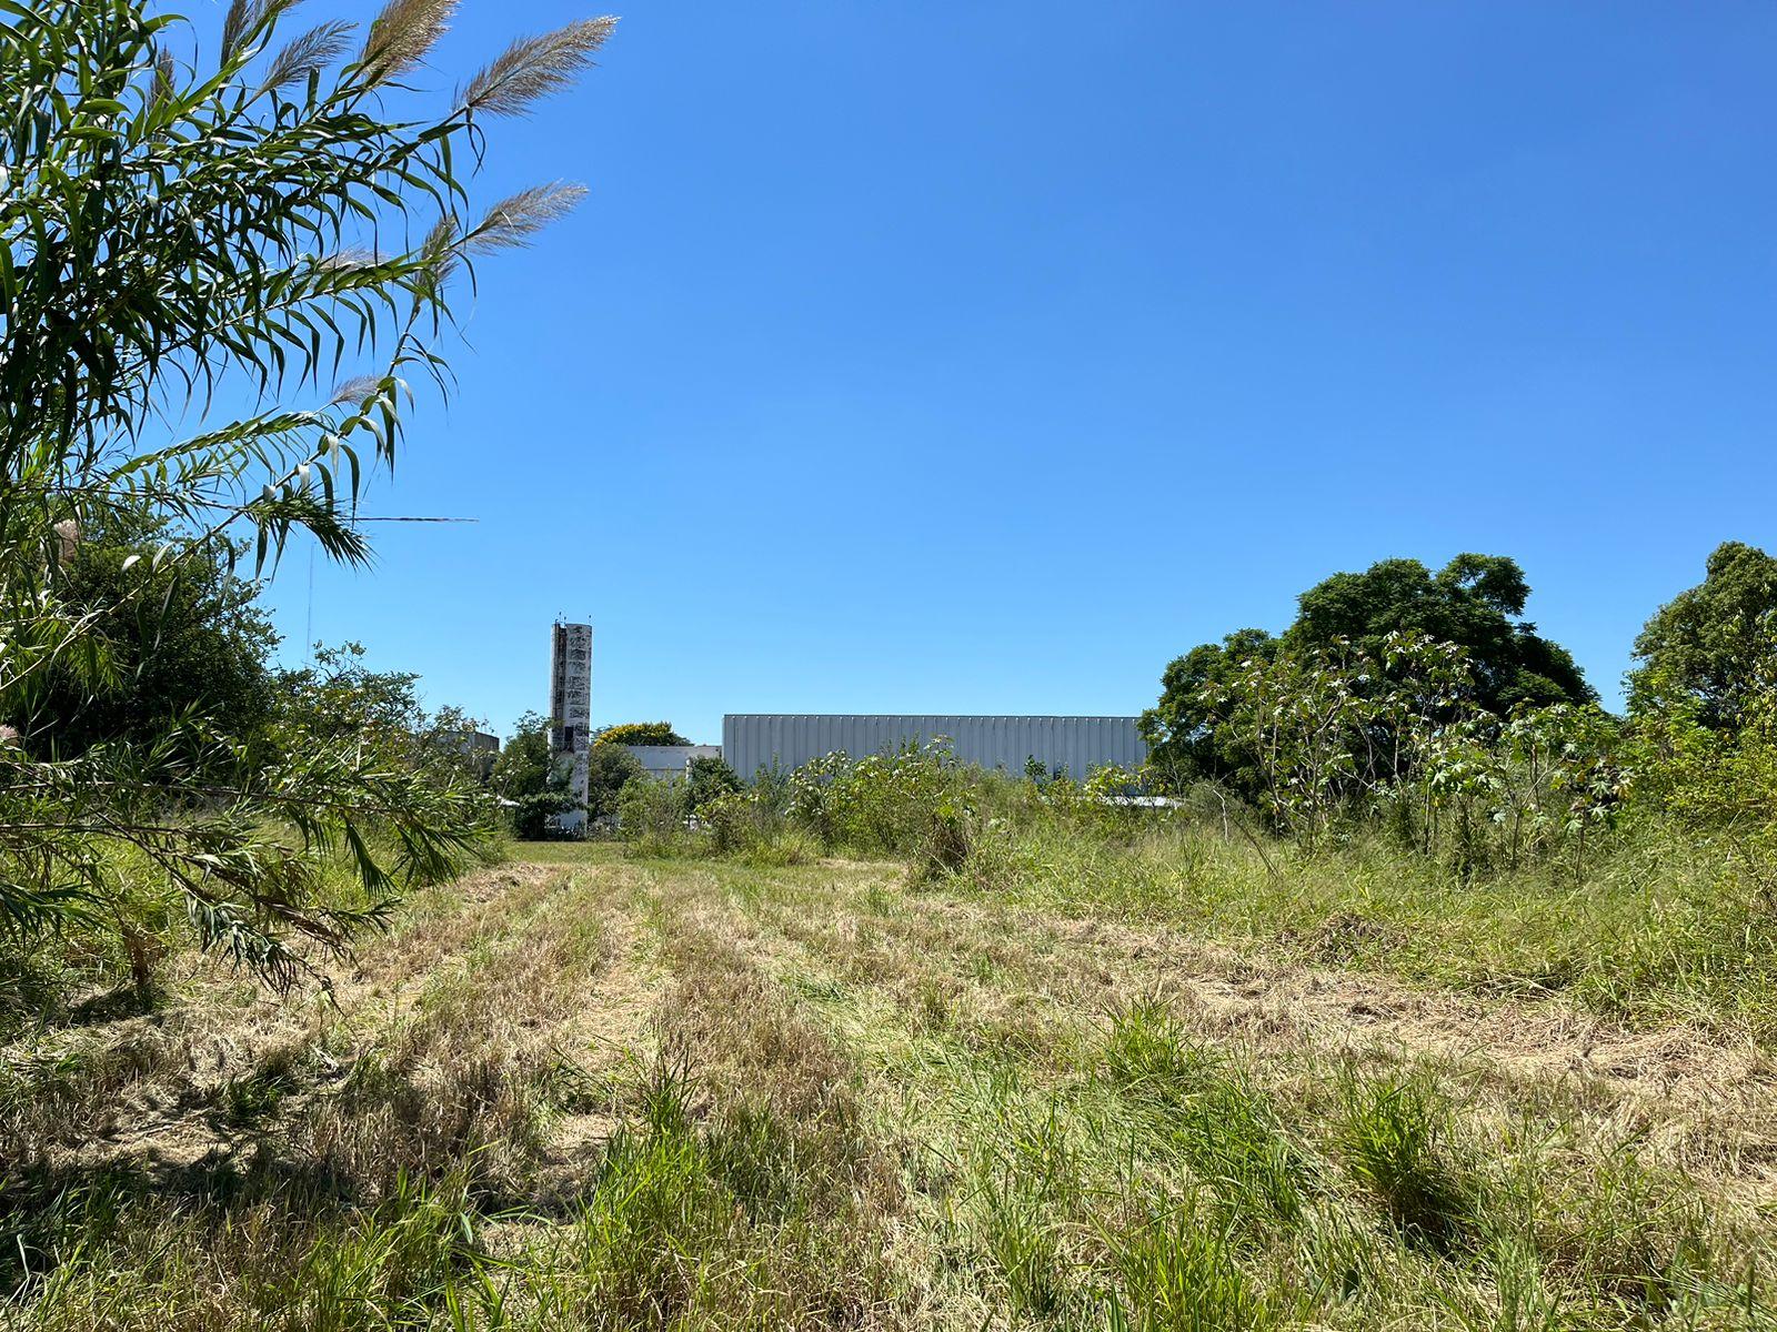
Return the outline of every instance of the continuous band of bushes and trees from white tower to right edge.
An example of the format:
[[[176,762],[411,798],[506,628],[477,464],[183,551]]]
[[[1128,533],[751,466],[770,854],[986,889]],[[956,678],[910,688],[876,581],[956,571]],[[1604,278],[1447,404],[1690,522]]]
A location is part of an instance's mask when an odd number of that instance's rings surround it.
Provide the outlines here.
[[[1267,865],[1383,840],[1459,881],[1567,884],[1624,829],[1654,829],[1669,838],[1656,856],[1708,845],[1777,888],[1777,559],[1722,545],[1653,614],[1624,716],[1523,618],[1528,591],[1502,556],[1338,574],[1281,634],[1240,630],[1171,662],[1139,773],[1032,764],[1018,780],[935,742],[746,783],[720,764],[693,783],[633,774],[602,799],[645,852],[897,856],[983,881],[1004,881],[995,858],[1038,824],[1127,840],[1207,822]]]

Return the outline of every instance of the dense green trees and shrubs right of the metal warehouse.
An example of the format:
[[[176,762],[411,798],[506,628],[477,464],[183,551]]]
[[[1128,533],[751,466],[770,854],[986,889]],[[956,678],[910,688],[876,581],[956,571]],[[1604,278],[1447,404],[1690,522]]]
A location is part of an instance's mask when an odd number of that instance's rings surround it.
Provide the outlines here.
[[[1176,659],[1143,718],[1157,789],[1205,783],[1308,842],[1370,822],[1462,872],[1569,856],[1637,813],[1763,872],[1777,821],[1777,559],[1731,542],[1635,643],[1628,712],[1525,622],[1500,556],[1390,559],[1301,597],[1278,636]]]

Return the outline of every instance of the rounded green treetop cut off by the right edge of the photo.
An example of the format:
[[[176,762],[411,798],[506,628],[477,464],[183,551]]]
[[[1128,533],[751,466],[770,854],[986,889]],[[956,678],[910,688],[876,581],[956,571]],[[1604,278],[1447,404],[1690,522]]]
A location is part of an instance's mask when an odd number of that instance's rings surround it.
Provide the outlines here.
[[[1743,725],[1761,671],[1777,657],[1777,559],[1743,542],[1724,542],[1704,579],[1654,611],[1635,639],[1642,666],[1630,673],[1630,703],[1695,702],[1711,730]]]

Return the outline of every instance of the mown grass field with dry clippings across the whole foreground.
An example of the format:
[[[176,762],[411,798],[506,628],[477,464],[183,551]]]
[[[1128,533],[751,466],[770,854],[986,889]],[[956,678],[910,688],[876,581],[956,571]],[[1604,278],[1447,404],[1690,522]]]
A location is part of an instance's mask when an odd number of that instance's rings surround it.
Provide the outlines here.
[[[1494,984],[1596,902],[1032,856],[521,847],[336,1003],[197,963],[96,998],[5,1050],[0,1320],[1777,1325],[1777,1082],[1727,982],[1590,931],[1573,984]]]

